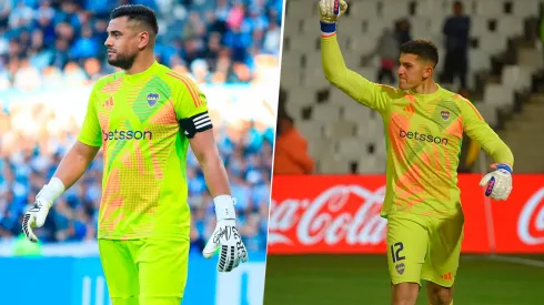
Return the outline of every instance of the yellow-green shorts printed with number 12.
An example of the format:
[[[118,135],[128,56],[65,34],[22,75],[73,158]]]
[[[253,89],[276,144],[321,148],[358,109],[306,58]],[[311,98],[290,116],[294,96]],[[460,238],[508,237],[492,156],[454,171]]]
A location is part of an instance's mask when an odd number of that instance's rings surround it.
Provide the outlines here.
[[[387,265],[393,284],[421,279],[453,286],[463,241],[464,217],[394,215],[387,220]]]

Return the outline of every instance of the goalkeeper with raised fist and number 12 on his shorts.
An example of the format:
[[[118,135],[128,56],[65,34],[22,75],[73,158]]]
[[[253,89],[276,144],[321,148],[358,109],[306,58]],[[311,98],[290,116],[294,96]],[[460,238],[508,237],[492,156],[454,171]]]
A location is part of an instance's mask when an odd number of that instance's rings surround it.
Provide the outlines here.
[[[433,81],[439,53],[430,41],[401,47],[397,89],[349,70],[336,40],[336,20],[346,9],[343,0],[319,3],[322,64],[332,84],[383,119],[387,167],[381,215],[387,218],[391,304],[415,304],[421,279],[427,281],[430,304],[453,304],[464,226],[456,185],[463,133],[496,162],[480,183],[492,199],[508,197],[514,157],[471,102]]]

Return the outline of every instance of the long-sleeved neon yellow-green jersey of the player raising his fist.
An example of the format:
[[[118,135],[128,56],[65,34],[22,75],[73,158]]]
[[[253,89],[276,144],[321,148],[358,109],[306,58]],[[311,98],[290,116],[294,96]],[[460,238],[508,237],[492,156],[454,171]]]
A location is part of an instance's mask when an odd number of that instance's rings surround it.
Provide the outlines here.
[[[440,88],[417,94],[365,80],[345,67],[336,35],[322,38],[329,80],[382,115],[386,135],[386,192],[382,216],[403,212],[447,217],[461,211],[457,165],[465,132],[495,162],[513,166],[508,146],[459,94]]]

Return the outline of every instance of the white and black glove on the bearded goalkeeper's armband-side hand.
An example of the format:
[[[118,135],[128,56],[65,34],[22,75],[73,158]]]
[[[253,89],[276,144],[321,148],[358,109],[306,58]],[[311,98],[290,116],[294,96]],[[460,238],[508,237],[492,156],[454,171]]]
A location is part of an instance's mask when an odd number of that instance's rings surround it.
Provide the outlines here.
[[[202,254],[205,258],[210,258],[221,246],[218,271],[231,272],[240,265],[240,260],[243,263],[248,262],[248,251],[236,228],[235,201],[230,195],[220,195],[214,197],[213,202],[218,224]]]

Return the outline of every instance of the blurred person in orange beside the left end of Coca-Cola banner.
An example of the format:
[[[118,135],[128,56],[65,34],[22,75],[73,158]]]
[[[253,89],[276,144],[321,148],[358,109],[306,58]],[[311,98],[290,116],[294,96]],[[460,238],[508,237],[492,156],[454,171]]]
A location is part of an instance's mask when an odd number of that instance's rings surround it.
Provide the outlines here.
[[[278,131],[274,154],[274,175],[312,174],[314,162],[308,154],[306,140],[294,126],[286,112],[278,113]]]

